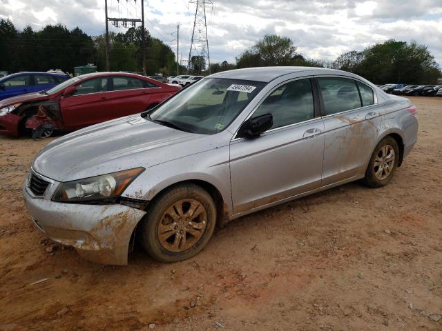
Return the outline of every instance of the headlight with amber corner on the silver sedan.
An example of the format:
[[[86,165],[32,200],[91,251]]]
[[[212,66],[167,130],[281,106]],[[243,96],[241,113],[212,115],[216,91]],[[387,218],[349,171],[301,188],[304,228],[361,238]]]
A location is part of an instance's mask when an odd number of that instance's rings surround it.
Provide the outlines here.
[[[52,201],[112,201],[119,197],[128,185],[144,170],[144,168],[135,168],[60,183],[54,197],[52,197]]]

